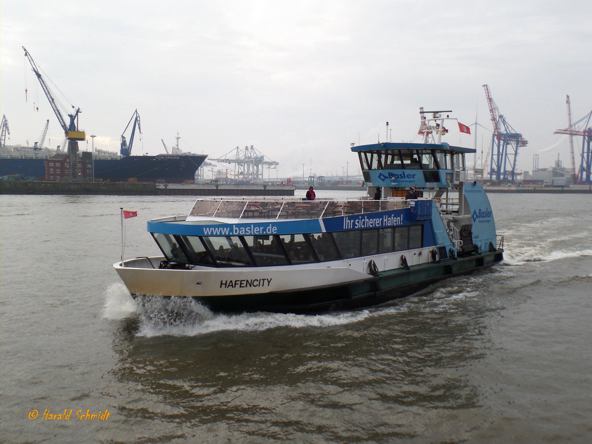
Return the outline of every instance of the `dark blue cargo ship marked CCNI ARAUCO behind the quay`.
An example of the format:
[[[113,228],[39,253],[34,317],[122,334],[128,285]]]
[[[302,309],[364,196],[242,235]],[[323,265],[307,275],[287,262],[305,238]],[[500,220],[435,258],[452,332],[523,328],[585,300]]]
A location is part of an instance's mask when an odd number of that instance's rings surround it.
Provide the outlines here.
[[[31,180],[44,180],[45,162],[57,150],[36,149],[28,146],[4,146],[0,153],[0,176],[22,176]],[[106,150],[95,150],[95,180],[125,182],[134,178],[139,182],[159,180],[175,184],[194,181],[195,172],[207,155],[192,153],[160,154],[156,156],[121,156]]]

